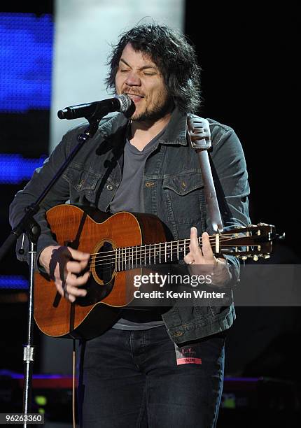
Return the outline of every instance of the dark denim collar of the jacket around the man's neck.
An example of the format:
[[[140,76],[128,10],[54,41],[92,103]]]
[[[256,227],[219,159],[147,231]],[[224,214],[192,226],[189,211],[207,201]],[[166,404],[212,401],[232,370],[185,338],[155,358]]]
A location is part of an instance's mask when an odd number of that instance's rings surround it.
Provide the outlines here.
[[[107,122],[99,127],[99,134],[107,137],[111,134],[115,134],[118,129],[126,127],[129,120],[123,113],[118,113],[109,118]],[[182,113],[179,108],[174,108],[172,117],[167,124],[165,133],[162,135],[158,143],[169,144],[169,145],[187,145],[186,140],[186,129],[187,129],[187,115]]]

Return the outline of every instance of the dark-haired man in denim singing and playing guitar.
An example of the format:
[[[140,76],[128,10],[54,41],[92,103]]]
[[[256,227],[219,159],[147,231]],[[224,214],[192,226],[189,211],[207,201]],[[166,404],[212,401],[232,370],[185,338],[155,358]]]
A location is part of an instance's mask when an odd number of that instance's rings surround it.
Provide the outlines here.
[[[42,228],[38,269],[49,273],[51,257],[59,248],[45,211],[70,201],[111,213],[156,215],[174,239],[190,237],[186,264],[212,269],[218,265],[212,287],[235,283],[237,259],[216,259],[212,252],[202,171],[188,142],[188,117],[200,108],[200,67],[193,47],[183,34],[168,27],[134,27],[113,47],[106,83],[116,94],[127,94],[135,111],[129,119],[122,113],[104,117],[41,204],[36,215]],[[249,223],[246,163],[235,131],[215,120],[209,119],[209,124],[211,159],[230,212],[224,219],[227,230]],[[15,196],[10,206],[13,227],[86,126],[69,131]],[[202,234],[202,248],[197,231]],[[84,285],[90,272],[85,268],[90,255],[72,248],[62,254],[65,275],[61,277],[57,266],[53,286],[73,302],[87,293]],[[175,304],[165,312],[125,308],[104,334],[82,343],[81,426],[215,427],[223,388],[225,331],[234,320],[233,304]],[[188,351],[195,358],[179,359]]]

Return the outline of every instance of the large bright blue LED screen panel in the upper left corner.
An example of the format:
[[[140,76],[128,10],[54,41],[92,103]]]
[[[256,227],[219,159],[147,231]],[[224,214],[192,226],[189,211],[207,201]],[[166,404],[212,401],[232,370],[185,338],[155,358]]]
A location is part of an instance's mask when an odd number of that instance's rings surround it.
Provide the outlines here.
[[[0,13],[0,113],[50,107],[51,15]]]

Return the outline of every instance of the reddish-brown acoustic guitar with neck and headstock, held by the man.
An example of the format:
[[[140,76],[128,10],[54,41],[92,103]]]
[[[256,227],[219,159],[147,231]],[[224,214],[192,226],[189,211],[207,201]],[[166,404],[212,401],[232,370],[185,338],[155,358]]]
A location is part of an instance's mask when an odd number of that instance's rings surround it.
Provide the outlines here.
[[[46,218],[59,245],[90,253],[87,295],[69,303],[44,273],[34,278],[34,318],[44,334],[93,338],[114,323],[133,300],[134,276],[147,266],[174,264],[189,252],[190,239],[167,241],[165,227],[155,215],[113,215],[92,208],[63,204]],[[240,259],[269,257],[276,237],[270,224],[249,225],[210,236],[216,255]],[[202,245],[202,238],[198,238]]]

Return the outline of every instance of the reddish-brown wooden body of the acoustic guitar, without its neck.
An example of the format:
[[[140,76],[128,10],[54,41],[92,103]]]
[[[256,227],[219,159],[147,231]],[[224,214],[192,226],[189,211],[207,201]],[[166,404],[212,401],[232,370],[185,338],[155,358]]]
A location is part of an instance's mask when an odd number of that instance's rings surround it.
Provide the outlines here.
[[[87,282],[87,296],[70,304],[58,294],[49,276],[36,272],[36,324],[48,336],[96,337],[109,329],[120,309],[132,301],[133,278],[141,275],[143,269],[116,269],[114,250],[165,241],[162,222],[155,215],[127,212],[108,215],[69,204],[51,208],[46,218],[59,245],[91,254],[91,275]],[[103,263],[102,269],[99,260]]]

